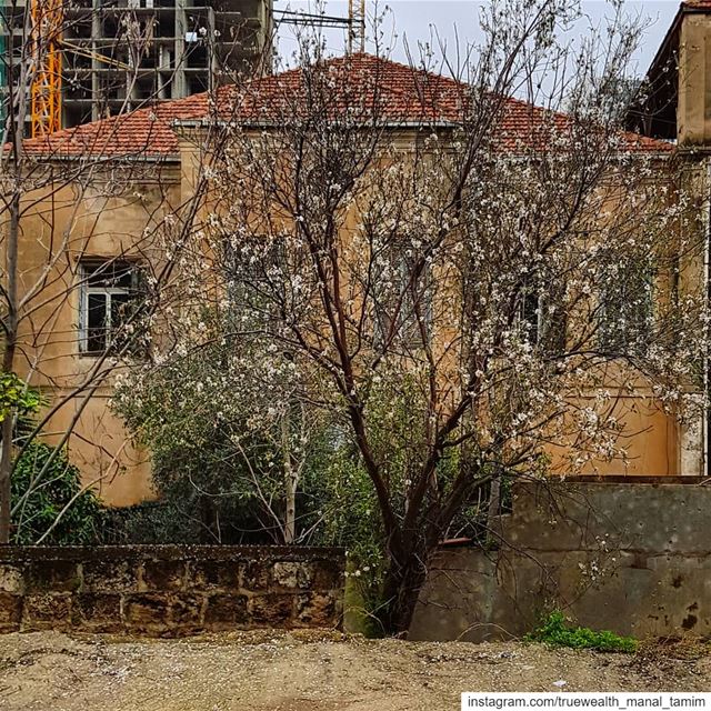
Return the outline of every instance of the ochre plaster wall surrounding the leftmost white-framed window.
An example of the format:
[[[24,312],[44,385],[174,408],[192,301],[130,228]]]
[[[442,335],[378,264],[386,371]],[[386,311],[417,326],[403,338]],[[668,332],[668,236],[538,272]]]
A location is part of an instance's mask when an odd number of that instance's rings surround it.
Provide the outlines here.
[[[120,178],[98,170],[83,177],[83,188],[63,182],[61,166],[54,169],[56,183],[23,200],[19,294],[27,304],[20,313],[16,370],[41,390],[50,408],[66,401],[44,428],[48,440],[61,440],[73,425],[69,453],[84,482],[110,504],[132,504],[154,494],[146,452],[130,444],[108,409],[112,377],[86,403],[88,390],[69,398],[82,383],[97,382],[90,375],[97,358],[80,352],[78,263],[119,257],[158,266],[163,250],[152,228],[179,204],[179,168],[147,164],[132,173],[127,167]],[[0,230],[6,218],[0,214]],[[111,370],[108,362],[103,368]]]

